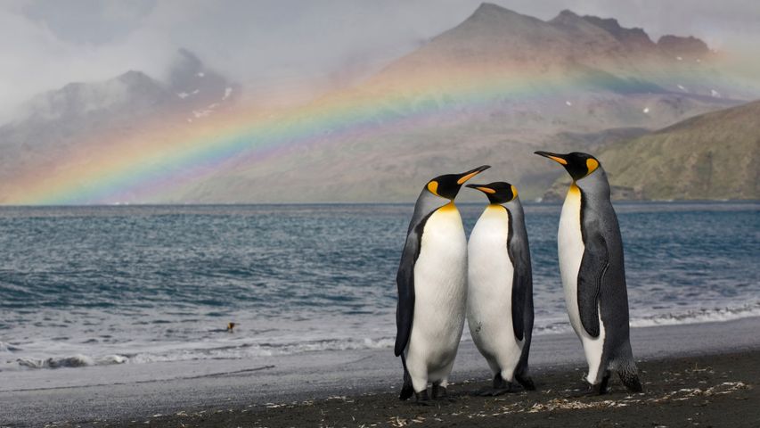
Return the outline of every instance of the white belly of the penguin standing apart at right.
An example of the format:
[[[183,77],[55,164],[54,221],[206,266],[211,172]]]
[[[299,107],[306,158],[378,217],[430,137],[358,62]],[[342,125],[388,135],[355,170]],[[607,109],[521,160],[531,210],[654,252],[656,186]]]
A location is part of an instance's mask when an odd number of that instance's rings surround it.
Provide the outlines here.
[[[565,303],[568,306],[570,324],[584,346],[584,354],[589,366],[586,379],[589,383],[594,383],[601,364],[604,324],[601,322],[600,316],[600,333],[598,337],[593,338],[589,333],[586,333],[578,309],[578,271],[581,268],[585,246],[581,234],[581,192],[575,184],[570,186],[568,196],[562,205],[557,242],[560,255],[560,275],[562,276],[562,287],[565,291]]]

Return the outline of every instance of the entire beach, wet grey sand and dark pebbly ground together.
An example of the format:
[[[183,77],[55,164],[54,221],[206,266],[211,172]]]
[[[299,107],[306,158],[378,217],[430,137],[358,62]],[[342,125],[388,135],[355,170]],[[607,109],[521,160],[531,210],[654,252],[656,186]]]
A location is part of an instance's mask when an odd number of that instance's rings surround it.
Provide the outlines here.
[[[312,352],[277,358],[200,360],[0,373],[0,426],[758,426],[760,318],[634,328],[646,391],[621,385],[571,398],[584,370],[574,334],[535,337],[538,386],[470,397],[486,364],[463,342],[454,401],[418,407],[396,399],[391,350]],[[730,409],[730,412],[726,410]],[[690,419],[691,418],[691,419]]]

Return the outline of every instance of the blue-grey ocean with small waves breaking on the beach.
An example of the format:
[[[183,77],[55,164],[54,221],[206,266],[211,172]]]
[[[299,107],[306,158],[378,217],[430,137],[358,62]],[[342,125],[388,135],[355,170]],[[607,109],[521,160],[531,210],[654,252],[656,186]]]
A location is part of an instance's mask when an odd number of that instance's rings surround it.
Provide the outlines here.
[[[483,208],[460,206],[468,233]],[[570,330],[560,208],[526,206],[535,334]],[[616,210],[631,325],[760,316],[760,204]],[[411,204],[0,208],[0,371],[392,352],[412,212]]]

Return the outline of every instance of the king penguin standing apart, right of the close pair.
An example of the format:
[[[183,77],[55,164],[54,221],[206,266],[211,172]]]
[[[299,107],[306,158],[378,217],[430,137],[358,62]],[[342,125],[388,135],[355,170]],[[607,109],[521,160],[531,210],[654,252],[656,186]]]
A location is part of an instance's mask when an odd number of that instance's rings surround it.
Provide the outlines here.
[[[584,347],[593,392],[607,391],[611,370],[628,391],[642,391],[633,361],[623,240],[609,201],[607,174],[582,152],[535,154],[559,162],[573,178],[557,235],[560,276],[570,324]]]

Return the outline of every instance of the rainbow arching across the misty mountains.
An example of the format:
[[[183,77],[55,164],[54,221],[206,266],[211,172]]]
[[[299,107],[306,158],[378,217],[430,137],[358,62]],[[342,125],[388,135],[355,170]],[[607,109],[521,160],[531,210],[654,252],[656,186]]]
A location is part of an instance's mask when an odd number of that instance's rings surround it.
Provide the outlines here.
[[[120,136],[90,136],[54,164],[24,170],[0,185],[0,202],[77,205],[171,200],[177,189],[212,176],[230,162],[250,165],[345,138],[421,126],[455,116],[462,105],[487,110],[494,102],[564,96],[630,81],[605,73],[543,70],[504,64],[380,73],[347,89],[283,111],[239,106],[194,121],[161,118]],[[691,83],[679,73],[674,81]],[[579,89],[580,88],[580,89]],[[107,147],[104,148],[104,147]]]

